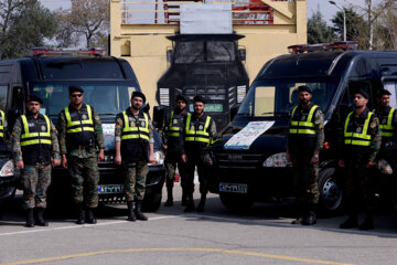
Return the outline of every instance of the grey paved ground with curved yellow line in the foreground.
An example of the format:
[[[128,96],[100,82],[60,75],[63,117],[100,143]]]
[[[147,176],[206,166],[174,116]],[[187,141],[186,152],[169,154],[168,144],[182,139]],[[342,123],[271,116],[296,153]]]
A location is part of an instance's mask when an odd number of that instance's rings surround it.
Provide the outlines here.
[[[249,213],[235,215],[211,195],[200,214],[183,213],[178,200],[172,208],[149,213],[148,222],[127,222],[126,206],[118,205],[100,209],[96,225],[55,216],[49,227],[26,229],[17,209],[0,221],[0,265],[397,264],[391,214],[377,215],[372,232],[337,229],[344,216],[320,219],[308,227],[290,224],[288,203],[256,204]]]

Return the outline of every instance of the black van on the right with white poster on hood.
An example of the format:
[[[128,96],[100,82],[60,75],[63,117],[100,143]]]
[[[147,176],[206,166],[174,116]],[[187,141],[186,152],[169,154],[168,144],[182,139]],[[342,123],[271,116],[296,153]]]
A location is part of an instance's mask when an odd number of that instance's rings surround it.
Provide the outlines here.
[[[322,47],[328,51],[308,53],[303,53],[308,45],[296,45],[291,46],[293,54],[264,65],[233,121],[208,150],[211,191],[219,193],[226,208],[242,210],[254,202],[292,197],[287,136],[291,110],[299,104],[297,87],[308,85],[313,91],[312,100],[325,116],[325,142],[320,153],[321,205],[329,212],[341,209],[343,192],[336,162],[343,121],[352,109],[350,83],[367,87],[371,109],[376,104],[373,95],[380,88],[391,93],[390,105],[397,107],[397,52],[334,50],[350,50],[352,45],[356,43],[329,44]]]

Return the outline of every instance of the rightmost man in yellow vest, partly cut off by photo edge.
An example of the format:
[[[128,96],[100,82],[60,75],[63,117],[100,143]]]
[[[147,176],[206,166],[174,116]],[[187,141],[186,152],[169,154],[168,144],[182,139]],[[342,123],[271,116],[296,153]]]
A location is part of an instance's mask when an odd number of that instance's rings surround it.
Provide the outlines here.
[[[374,110],[379,119],[379,127],[382,131],[380,152],[383,156],[390,156],[395,132],[397,130],[397,115],[396,109],[390,107],[390,92],[380,89],[377,94],[377,108]]]

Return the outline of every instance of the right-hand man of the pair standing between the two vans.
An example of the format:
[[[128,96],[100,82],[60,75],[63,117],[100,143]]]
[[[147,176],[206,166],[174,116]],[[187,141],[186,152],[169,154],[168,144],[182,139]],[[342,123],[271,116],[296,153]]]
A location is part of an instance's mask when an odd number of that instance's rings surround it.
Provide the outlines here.
[[[216,125],[213,118],[204,113],[205,100],[202,96],[193,98],[192,115],[186,116],[184,123],[184,147],[182,149],[182,162],[185,163],[185,192],[187,194],[187,205],[185,212],[204,211],[208,187],[205,179],[204,151],[211,145],[216,135]],[[195,209],[193,201],[194,192],[194,170],[197,167],[201,200]]]

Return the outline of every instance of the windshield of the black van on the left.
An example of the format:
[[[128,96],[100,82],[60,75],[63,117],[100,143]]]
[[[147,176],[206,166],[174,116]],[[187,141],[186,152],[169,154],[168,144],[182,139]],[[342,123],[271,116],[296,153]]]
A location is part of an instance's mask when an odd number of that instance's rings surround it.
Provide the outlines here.
[[[42,114],[57,116],[69,105],[69,85],[78,85],[84,89],[83,102],[94,106],[98,115],[117,115],[126,110],[130,106],[132,92],[138,89],[138,85],[130,81],[37,82],[30,86],[30,94],[43,99]]]

